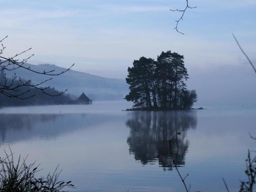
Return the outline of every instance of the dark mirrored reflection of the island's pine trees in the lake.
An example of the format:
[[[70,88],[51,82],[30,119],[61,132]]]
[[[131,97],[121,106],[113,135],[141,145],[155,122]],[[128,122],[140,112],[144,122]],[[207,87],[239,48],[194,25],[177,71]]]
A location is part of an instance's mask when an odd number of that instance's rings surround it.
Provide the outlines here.
[[[195,111],[138,111],[132,113],[132,118],[126,124],[131,129],[127,139],[129,152],[134,154],[136,160],[144,165],[158,160],[164,170],[172,170],[169,148],[171,140],[176,164],[185,164],[185,153],[189,145],[186,132],[189,128],[196,128]]]

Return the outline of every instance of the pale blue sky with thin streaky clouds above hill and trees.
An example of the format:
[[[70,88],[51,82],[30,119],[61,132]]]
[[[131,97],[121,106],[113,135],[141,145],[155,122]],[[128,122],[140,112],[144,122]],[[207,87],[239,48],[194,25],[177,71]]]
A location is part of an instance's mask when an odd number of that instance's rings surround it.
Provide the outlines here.
[[[73,70],[125,79],[135,59],[156,59],[171,50],[184,55],[188,85],[198,89],[201,98],[228,87],[227,100],[238,89],[254,100],[256,75],[232,33],[256,63],[255,0],[190,0],[189,5],[197,8],[188,9],[178,25],[184,35],[173,30],[181,12],[170,9],[184,9],[185,0],[0,0],[0,4],[0,37],[8,35],[3,42],[5,56],[32,47],[23,55],[35,54],[28,63],[61,67],[75,63]],[[219,90],[209,88],[220,84]]]

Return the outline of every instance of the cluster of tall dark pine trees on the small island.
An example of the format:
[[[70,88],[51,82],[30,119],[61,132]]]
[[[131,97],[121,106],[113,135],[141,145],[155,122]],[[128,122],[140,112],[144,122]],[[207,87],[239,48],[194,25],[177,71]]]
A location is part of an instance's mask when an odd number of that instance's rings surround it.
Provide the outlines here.
[[[128,67],[126,82],[130,92],[125,96],[136,108],[190,109],[197,101],[195,90],[188,90],[187,68],[183,55],[162,52],[157,61],[141,57]]]

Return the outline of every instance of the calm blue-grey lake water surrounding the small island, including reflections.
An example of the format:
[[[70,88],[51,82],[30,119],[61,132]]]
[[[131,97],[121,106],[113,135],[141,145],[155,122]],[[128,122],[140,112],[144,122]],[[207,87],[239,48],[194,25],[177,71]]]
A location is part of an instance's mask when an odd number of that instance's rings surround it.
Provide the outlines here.
[[[185,191],[173,167],[189,173],[191,191],[239,190],[247,150],[256,150],[256,107],[201,105],[207,110],[121,111],[127,102],[0,109],[0,156],[41,163],[40,175],[58,164],[71,191]],[[201,107],[200,105],[195,107]],[[181,133],[181,134],[177,134]]]

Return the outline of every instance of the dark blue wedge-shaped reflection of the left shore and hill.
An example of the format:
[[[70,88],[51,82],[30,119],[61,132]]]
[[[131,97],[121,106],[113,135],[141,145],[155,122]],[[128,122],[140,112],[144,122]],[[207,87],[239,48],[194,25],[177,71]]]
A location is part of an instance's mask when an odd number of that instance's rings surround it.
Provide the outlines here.
[[[54,138],[95,124],[111,121],[97,114],[1,114],[0,144],[31,138]]]

